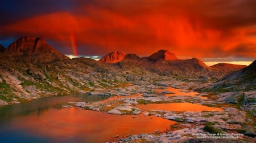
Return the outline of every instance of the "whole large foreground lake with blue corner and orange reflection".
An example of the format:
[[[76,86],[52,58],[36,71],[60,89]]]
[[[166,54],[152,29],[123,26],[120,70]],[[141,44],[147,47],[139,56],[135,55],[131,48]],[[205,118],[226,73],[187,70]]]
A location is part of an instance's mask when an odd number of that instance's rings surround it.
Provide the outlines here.
[[[116,135],[164,131],[175,123],[142,114],[133,118],[62,107],[67,102],[108,100],[107,96],[78,94],[0,107],[1,142],[105,142]]]

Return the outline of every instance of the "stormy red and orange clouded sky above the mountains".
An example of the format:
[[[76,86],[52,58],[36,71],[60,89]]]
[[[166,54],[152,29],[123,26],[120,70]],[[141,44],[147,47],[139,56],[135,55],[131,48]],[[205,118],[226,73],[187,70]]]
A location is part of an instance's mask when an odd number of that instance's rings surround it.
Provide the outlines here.
[[[119,50],[143,57],[167,49],[180,57],[256,58],[254,0],[60,2],[0,3],[0,44],[44,37],[73,54],[73,36],[79,55]]]

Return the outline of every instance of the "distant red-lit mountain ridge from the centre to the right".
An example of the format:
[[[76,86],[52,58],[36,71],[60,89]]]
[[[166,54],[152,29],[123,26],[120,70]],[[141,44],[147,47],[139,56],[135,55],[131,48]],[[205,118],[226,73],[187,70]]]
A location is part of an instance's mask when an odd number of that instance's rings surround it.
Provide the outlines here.
[[[197,58],[181,60],[174,53],[168,50],[159,50],[149,57],[140,58],[136,54],[125,54],[122,51],[114,51],[100,59],[103,63],[136,64],[151,72],[156,72],[164,76],[189,76],[208,77],[210,79],[220,79],[234,71],[238,71],[246,66],[236,64],[219,63],[208,67],[203,61]]]

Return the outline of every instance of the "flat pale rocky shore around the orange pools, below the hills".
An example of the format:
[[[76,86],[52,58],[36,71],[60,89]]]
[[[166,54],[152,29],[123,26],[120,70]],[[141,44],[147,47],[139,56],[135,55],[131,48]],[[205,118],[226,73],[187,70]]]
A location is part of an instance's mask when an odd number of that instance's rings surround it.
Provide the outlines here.
[[[227,101],[229,101],[229,99],[227,100],[227,98],[218,98],[222,97],[222,94],[214,96],[210,93],[202,93],[195,96],[164,96],[164,94],[159,95],[159,92],[155,92],[154,89],[166,89],[167,86],[170,86],[170,84],[166,83],[172,83],[172,87],[174,88],[183,89],[184,93],[192,92],[192,90],[188,89],[192,89],[192,87],[195,86],[193,83],[164,81],[163,83],[159,82],[158,85],[144,85],[144,87],[140,87],[140,90],[137,90],[139,93],[134,93],[134,89],[138,88],[137,85],[134,85],[121,90],[121,92],[119,91],[121,93],[120,95],[135,94],[131,98],[129,96],[122,96],[122,98],[106,102],[72,102],[69,103],[69,105],[85,110],[108,112],[108,114],[134,115],[133,118],[136,118],[136,115],[140,114],[158,116],[159,118],[177,122],[176,125],[170,127],[170,131],[158,131],[158,129],[156,129],[154,133],[141,133],[139,135],[131,135],[127,138],[114,137],[112,142],[218,142],[227,140],[227,138],[234,142],[245,142],[245,140],[249,142],[255,141],[254,119],[248,116],[247,111],[244,110],[245,107],[251,109],[254,108],[255,105],[245,104],[241,105],[241,107],[237,107],[236,105],[228,103]],[[167,92],[164,91],[160,93]],[[100,94],[100,90],[91,94]],[[106,92],[101,94],[108,96]],[[115,95],[117,94],[118,93],[115,93]],[[247,98],[254,98],[255,92],[243,92],[243,94],[248,95]],[[201,96],[208,98],[200,98]],[[216,100],[216,98],[218,99]],[[195,105],[210,106],[216,109],[220,108],[222,111],[144,110],[137,107],[137,105],[147,105],[148,103],[193,103]],[[199,133],[209,133],[204,129],[208,124],[210,124],[210,127],[220,131],[223,136],[197,136]],[[241,131],[243,131],[243,133],[238,136]]]

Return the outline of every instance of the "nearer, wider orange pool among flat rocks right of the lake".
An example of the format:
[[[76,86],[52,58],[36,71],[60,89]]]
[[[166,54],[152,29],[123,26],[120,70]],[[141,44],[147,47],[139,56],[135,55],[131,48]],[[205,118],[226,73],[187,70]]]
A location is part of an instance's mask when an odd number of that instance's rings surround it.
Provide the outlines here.
[[[139,109],[144,110],[167,110],[167,111],[223,111],[223,109],[197,105],[194,103],[164,103],[137,105]]]

